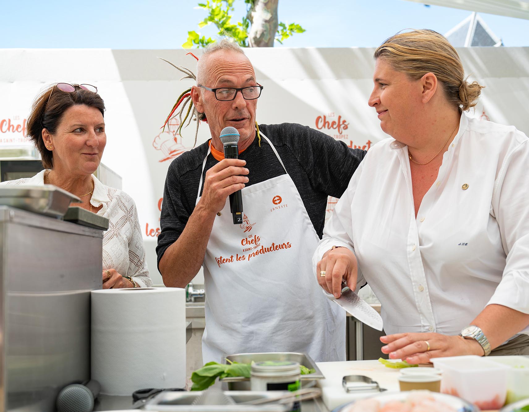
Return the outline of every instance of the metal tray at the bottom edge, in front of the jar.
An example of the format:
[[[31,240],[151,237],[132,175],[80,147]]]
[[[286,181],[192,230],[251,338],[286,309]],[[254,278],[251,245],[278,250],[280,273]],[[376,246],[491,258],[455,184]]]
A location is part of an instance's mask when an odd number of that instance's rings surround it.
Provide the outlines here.
[[[251,400],[276,398],[278,395],[289,393],[288,391],[220,392],[234,403],[230,405],[191,405],[203,392],[206,391],[160,392],[149,400],[143,409],[158,412],[288,412],[293,407],[293,402],[286,402],[282,405],[273,402],[265,405],[240,405],[242,402]]]

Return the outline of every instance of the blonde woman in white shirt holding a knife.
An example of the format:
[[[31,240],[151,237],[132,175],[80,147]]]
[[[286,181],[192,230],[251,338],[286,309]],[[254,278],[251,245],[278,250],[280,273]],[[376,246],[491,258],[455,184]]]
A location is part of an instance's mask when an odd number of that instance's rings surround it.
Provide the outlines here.
[[[529,139],[467,116],[482,86],[441,34],[396,34],[375,60],[369,105],[391,138],[325,226],[320,284],[369,283],[390,359],[529,355]]]

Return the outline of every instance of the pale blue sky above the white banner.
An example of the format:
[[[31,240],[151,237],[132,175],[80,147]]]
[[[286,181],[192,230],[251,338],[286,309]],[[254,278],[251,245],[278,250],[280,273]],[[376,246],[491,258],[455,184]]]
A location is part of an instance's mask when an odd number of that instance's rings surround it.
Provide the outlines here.
[[[198,0],[0,0],[0,48],[181,48],[205,12]],[[236,0],[234,17],[245,13]],[[404,0],[280,0],[279,20],[307,31],[285,47],[375,47],[405,28],[445,33],[471,12]],[[529,20],[480,14],[505,46],[529,46]],[[276,43],[276,46],[279,44]]]

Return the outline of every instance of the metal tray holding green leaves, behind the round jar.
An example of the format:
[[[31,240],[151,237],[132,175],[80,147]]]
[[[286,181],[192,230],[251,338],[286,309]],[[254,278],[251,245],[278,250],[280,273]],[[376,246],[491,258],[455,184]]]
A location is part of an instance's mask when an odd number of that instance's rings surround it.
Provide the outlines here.
[[[316,365],[316,362],[306,353],[302,352],[260,352],[260,353],[236,353],[227,355],[222,358],[222,363],[227,360],[238,363],[252,363],[261,361],[294,361],[308,369],[314,369],[316,372],[307,375],[301,375],[302,387],[309,388],[316,384],[316,380],[325,379],[322,371]],[[228,384],[229,390],[250,390],[250,379],[244,377],[226,377],[222,378],[223,383]]]

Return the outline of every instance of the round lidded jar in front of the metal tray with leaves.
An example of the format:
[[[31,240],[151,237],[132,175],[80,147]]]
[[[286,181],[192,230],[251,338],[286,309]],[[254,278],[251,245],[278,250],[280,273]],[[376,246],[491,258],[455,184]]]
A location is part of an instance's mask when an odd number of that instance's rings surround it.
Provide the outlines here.
[[[301,371],[298,362],[262,361],[252,364],[250,383],[252,391],[300,389]],[[294,402],[292,412],[300,411],[299,402]]]

